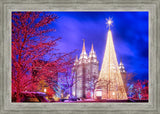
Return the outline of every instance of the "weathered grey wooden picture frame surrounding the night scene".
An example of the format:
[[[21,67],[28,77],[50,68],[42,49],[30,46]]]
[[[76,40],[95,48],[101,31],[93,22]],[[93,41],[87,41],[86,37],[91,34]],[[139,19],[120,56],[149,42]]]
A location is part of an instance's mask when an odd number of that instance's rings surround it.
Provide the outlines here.
[[[148,11],[149,102],[12,103],[12,11]],[[0,1],[0,16],[0,113],[160,113],[160,46],[158,45],[160,44],[160,0],[4,0]]]

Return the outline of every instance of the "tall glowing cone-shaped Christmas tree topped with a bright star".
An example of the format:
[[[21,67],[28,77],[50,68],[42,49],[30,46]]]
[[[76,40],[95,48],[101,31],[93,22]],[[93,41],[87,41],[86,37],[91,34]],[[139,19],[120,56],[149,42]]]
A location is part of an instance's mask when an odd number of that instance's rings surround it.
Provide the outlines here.
[[[109,26],[107,45],[105,48],[98,83],[96,85],[96,91],[101,91],[101,94],[98,95],[101,95],[102,99],[125,100],[127,99],[127,94],[118,67],[112,32],[110,30],[111,24],[112,20],[109,19],[107,21],[107,25]]]

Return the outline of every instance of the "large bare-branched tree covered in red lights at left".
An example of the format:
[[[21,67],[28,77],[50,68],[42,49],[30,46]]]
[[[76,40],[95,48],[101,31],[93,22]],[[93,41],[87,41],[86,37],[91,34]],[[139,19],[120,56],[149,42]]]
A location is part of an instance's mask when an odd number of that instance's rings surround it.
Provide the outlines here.
[[[16,102],[20,102],[22,91],[37,90],[40,80],[53,88],[57,73],[66,71],[64,66],[69,62],[64,58],[71,53],[57,53],[55,47],[60,38],[48,35],[55,31],[49,24],[57,18],[53,13],[12,13],[12,97]],[[47,61],[39,62],[45,56]],[[49,92],[54,93],[53,89]]]

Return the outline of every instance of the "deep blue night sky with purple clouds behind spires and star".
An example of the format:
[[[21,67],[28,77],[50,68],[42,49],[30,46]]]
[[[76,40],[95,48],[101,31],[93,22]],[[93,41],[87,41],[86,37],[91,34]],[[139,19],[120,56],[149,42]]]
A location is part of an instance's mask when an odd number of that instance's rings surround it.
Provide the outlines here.
[[[101,68],[106,45],[106,18],[112,18],[111,31],[118,63],[127,72],[136,73],[135,79],[148,79],[148,12],[53,12],[59,18],[52,24],[55,37],[62,37],[60,52],[78,49],[80,56],[85,39],[89,54],[93,43]]]

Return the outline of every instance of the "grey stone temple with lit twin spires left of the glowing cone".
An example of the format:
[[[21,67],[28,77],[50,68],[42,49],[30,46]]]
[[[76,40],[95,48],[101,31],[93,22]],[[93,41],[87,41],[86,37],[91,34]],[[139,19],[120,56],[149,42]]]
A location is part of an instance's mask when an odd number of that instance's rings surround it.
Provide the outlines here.
[[[82,52],[79,59],[76,57],[72,71],[74,74],[73,95],[78,98],[93,98],[99,76],[99,61],[93,44],[88,56],[85,49],[85,41],[83,40]]]

